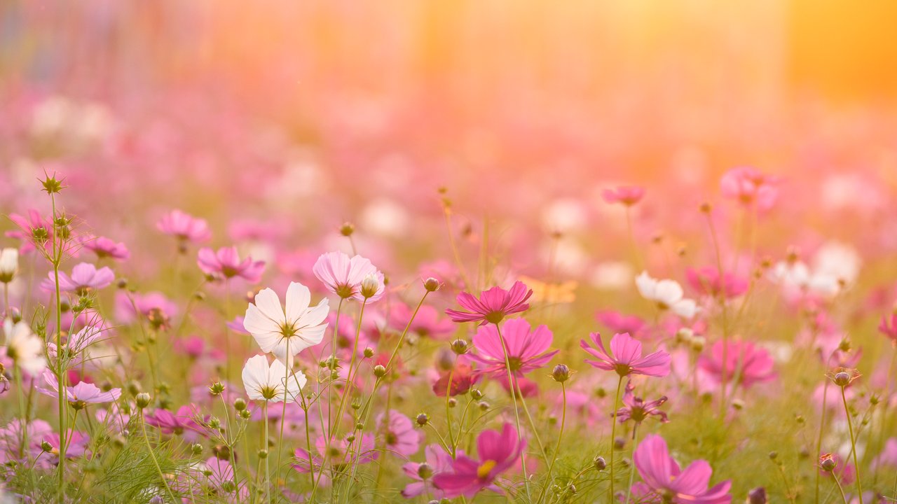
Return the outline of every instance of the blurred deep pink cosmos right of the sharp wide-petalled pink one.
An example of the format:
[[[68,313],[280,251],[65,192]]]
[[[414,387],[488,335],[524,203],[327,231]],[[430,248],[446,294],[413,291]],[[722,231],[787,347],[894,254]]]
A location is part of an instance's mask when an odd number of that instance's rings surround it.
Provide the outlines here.
[[[729,342],[726,362],[723,363],[723,342],[714,343],[710,357],[701,356],[698,367],[710,374],[717,383],[736,378],[737,384],[745,388],[754,383],[770,381],[776,377],[770,352],[750,342]]]

